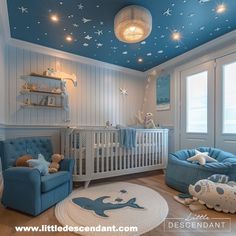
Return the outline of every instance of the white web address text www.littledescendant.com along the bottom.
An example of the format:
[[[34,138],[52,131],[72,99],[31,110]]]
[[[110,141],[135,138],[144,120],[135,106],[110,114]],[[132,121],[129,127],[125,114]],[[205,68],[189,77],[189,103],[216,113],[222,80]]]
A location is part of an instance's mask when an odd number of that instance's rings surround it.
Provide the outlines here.
[[[16,232],[138,232],[136,226],[15,226]]]

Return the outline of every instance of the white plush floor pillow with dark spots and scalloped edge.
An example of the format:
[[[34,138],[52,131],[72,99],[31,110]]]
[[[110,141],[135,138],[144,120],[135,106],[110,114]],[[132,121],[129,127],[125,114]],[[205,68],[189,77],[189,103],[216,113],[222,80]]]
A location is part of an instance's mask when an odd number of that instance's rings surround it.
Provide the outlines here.
[[[225,213],[236,213],[236,182],[214,182],[214,179],[202,179],[189,186],[189,193],[199,203]]]

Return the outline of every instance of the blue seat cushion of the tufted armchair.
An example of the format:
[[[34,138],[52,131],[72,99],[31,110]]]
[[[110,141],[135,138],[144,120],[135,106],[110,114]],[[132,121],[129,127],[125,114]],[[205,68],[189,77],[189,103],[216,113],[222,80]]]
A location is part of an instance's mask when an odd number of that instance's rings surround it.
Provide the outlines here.
[[[71,175],[68,171],[59,171],[57,173],[41,177],[41,191],[48,192],[69,181]]]

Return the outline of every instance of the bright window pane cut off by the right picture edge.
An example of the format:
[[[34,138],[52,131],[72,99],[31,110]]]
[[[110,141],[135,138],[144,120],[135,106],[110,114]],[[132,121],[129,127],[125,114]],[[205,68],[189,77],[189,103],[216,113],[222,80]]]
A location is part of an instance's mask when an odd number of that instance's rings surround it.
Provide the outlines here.
[[[236,62],[223,67],[223,133],[236,133]]]

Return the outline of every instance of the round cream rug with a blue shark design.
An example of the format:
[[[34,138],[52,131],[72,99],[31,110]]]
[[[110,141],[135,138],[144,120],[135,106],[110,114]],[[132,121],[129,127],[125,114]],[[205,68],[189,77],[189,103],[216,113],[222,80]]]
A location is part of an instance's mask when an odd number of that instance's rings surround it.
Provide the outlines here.
[[[55,214],[63,226],[138,227],[138,232],[78,232],[80,235],[141,235],[165,220],[168,205],[150,188],[118,182],[73,191],[57,204]]]

